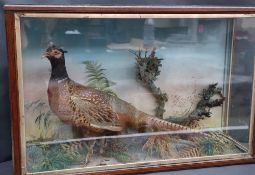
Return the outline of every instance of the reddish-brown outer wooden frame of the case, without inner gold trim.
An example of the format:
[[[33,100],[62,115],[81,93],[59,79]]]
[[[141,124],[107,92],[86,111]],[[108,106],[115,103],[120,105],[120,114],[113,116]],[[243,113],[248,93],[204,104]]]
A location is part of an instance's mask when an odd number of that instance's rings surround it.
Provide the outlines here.
[[[15,37],[15,14],[16,13],[89,13],[89,14],[225,14],[225,15],[246,15],[255,14],[254,7],[201,7],[201,6],[36,6],[36,5],[7,5],[5,9],[6,37],[9,64],[9,89],[11,102],[11,120],[12,120],[12,150],[14,174],[19,175],[23,172],[21,164],[21,129],[20,129],[20,105],[18,88],[18,70],[17,70],[17,49]],[[254,82],[253,82],[254,83]],[[253,91],[254,91],[253,84]],[[253,92],[254,107],[254,92]],[[254,114],[253,114],[254,115]],[[255,120],[252,120],[251,126],[254,126]],[[91,174],[131,174],[156,172],[166,170],[178,170],[188,168],[202,168],[211,166],[224,166],[233,164],[255,163],[255,127],[251,127],[251,154],[248,157],[213,159],[192,161],[186,163],[158,164],[158,165],[139,165],[134,168],[114,169],[91,172]],[[57,173],[58,174],[58,173]],[[61,173],[60,173],[61,174]],[[75,174],[75,173],[62,173]],[[76,173],[83,174],[83,173]],[[90,174],[86,172],[86,174]]]

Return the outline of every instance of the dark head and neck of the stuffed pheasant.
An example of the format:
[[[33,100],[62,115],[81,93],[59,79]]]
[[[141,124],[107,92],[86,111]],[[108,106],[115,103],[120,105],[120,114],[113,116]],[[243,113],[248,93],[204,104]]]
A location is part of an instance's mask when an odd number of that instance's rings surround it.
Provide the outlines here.
[[[51,80],[61,80],[68,77],[65,66],[65,53],[63,49],[54,45],[50,46],[44,53],[51,63]]]

